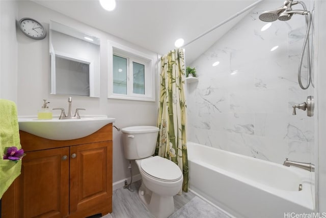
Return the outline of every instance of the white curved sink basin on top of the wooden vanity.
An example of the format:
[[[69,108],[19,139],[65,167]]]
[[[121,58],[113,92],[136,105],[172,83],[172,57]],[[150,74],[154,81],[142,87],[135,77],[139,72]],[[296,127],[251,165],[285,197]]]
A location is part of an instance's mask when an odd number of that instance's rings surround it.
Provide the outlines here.
[[[83,138],[115,121],[115,118],[107,116],[85,116],[72,120],[59,120],[59,117],[52,120],[38,120],[35,116],[18,117],[20,130],[51,140]]]

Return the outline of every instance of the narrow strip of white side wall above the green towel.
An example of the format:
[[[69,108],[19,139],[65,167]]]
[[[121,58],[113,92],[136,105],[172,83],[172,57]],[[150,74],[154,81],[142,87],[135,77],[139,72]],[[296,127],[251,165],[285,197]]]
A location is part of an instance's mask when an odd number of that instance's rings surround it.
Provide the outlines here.
[[[0,98],[17,103],[17,2],[0,1]]]

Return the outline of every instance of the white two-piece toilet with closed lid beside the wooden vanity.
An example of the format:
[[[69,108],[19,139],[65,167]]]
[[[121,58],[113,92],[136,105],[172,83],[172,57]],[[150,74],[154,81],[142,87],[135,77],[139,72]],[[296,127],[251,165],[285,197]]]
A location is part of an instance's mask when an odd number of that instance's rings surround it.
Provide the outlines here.
[[[175,196],[182,187],[183,175],[171,160],[152,156],[159,129],[155,126],[122,128],[126,159],[135,160],[142,176],[139,197],[156,218],[167,218],[174,212]]]

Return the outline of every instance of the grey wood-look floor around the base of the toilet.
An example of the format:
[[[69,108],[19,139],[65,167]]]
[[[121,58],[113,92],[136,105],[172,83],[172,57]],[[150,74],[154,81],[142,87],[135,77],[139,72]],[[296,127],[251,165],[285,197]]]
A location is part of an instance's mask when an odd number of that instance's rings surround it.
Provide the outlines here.
[[[133,192],[128,189],[119,188],[113,192],[113,218],[153,218],[138,196],[138,189],[141,182],[132,183]],[[192,192],[174,196],[175,211],[192,200],[195,195]]]

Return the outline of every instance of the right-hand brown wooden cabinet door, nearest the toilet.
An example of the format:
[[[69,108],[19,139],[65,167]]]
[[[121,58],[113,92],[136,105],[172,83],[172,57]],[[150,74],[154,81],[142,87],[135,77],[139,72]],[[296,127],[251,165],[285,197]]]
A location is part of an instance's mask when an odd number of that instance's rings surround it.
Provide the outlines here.
[[[112,212],[112,141],[70,147],[69,211],[70,217]]]

